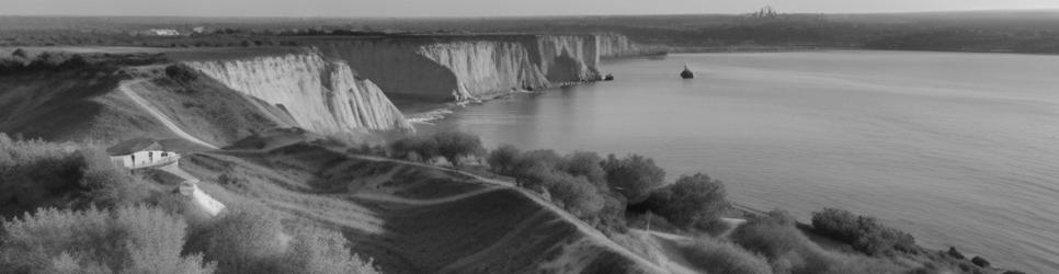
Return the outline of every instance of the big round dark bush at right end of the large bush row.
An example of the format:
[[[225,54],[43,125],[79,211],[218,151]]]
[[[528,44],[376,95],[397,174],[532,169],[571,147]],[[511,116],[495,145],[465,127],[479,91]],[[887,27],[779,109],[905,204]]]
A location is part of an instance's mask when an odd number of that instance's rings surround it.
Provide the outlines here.
[[[725,184],[706,174],[683,175],[676,183],[651,193],[652,210],[682,228],[714,226],[730,206]]]

